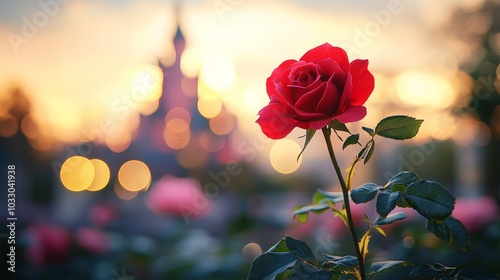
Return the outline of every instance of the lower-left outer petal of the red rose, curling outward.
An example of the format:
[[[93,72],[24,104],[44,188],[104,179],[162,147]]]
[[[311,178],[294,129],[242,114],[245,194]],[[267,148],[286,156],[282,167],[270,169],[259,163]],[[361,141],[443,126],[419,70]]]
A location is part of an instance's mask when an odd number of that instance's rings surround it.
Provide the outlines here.
[[[281,139],[297,126],[297,122],[288,116],[285,106],[280,103],[267,105],[259,111],[259,115],[256,123],[271,139]]]

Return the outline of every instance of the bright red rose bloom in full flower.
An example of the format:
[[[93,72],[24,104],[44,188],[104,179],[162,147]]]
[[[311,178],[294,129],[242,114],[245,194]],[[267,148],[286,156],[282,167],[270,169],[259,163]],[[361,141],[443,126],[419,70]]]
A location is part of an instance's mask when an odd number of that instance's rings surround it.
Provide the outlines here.
[[[321,129],[337,119],[342,123],[366,116],[363,106],[374,87],[368,60],[349,63],[346,52],[328,43],[306,52],[299,61],[281,63],[266,81],[269,105],[257,123],[272,139],[295,127]]]

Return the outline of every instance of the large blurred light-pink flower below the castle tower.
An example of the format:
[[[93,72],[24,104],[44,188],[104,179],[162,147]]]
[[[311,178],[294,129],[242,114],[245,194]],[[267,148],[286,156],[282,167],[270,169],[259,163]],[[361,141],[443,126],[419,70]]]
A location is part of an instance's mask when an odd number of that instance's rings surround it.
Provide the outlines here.
[[[193,178],[163,176],[149,190],[147,206],[156,214],[201,217],[211,208],[210,200],[201,191],[200,183]]]

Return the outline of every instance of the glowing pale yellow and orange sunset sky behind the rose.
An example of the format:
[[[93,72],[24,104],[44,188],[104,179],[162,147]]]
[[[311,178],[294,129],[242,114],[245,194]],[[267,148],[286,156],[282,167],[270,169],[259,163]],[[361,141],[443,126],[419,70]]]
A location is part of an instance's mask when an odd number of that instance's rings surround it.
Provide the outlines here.
[[[139,114],[158,106],[157,65],[174,61],[178,22],[187,41],[182,72],[200,78],[199,98],[235,114],[243,134],[259,131],[254,121],[268,102],[265,79],[272,70],[329,42],[346,49],[351,60],[370,61],[377,82],[368,124],[411,107],[409,114],[427,116],[421,137],[446,139],[453,129],[443,134],[433,118],[446,119],[445,110],[468,92],[459,65],[473,53],[473,46],[446,33],[446,25],[455,9],[473,11],[481,3],[213,0],[185,1],[176,13],[172,1],[4,0],[0,100],[20,88],[49,146],[77,143],[82,131],[98,126],[149,75],[147,93],[127,105],[133,113],[113,119],[130,129]],[[474,22],[478,29],[485,24],[483,18]]]

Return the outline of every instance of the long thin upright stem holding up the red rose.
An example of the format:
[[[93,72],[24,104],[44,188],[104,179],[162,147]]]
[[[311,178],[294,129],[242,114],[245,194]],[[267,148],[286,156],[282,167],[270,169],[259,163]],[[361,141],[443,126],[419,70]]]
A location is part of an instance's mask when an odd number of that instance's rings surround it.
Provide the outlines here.
[[[330,128],[323,127],[323,136],[325,137],[326,146],[328,148],[328,153],[330,154],[330,159],[332,160],[333,167],[335,168],[335,172],[337,173],[337,177],[339,178],[340,187],[342,187],[342,194],[344,195],[344,206],[347,216],[347,225],[349,228],[349,232],[351,233],[352,240],[354,242],[354,249],[356,250],[356,255],[358,257],[359,264],[359,274],[361,275],[361,279],[365,280],[365,266],[363,262],[363,256],[361,255],[361,250],[359,249],[358,237],[356,236],[356,230],[354,228],[354,221],[352,219],[351,214],[351,206],[349,205],[349,190],[347,189],[347,185],[344,181],[344,177],[342,176],[342,172],[340,171],[339,164],[337,162],[337,158],[335,157],[335,153],[333,152],[332,141],[330,139]]]

